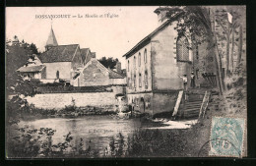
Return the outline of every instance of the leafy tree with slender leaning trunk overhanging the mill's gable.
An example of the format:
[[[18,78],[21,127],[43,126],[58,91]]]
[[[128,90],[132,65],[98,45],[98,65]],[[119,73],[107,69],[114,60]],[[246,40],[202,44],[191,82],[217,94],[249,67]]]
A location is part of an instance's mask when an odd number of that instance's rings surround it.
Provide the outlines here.
[[[220,93],[223,93],[222,64],[217,47],[217,38],[211,22],[210,10],[200,6],[187,6],[170,8],[167,17],[177,18],[176,29],[178,34],[191,39],[192,44],[197,46],[203,42],[208,43],[208,50],[215,52],[217,80]]]

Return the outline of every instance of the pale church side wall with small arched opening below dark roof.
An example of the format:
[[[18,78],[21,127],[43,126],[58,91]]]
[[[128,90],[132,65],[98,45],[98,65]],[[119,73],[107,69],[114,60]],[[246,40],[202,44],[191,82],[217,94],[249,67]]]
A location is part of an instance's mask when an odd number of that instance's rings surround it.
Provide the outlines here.
[[[46,79],[56,79],[59,71],[59,79],[71,79],[71,62],[44,63],[46,66]]]

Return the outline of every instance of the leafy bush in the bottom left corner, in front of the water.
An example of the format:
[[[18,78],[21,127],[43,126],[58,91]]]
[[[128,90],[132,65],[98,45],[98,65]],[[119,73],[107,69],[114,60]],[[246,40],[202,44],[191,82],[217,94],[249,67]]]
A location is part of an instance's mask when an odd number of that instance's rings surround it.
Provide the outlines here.
[[[9,140],[8,155],[9,157],[53,157],[61,156],[70,147],[73,139],[71,133],[64,136],[64,141],[57,144],[52,143],[52,137],[56,130],[49,128],[17,129],[20,135]]]

